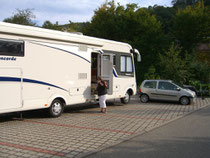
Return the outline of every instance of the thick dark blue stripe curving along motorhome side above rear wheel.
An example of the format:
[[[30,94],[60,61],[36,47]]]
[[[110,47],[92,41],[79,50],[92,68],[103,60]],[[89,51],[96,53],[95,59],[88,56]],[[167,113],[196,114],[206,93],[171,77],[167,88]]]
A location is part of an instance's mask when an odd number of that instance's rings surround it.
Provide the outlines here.
[[[0,77],[0,82],[21,82],[21,78],[17,78],[17,77]],[[47,82],[42,82],[42,81],[37,81],[37,80],[31,80],[31,79],[27,79],[27,78],[23,78],[23,82],[27,82],[27,83],[35,83],[35,84],[41,84],[41,85],[47,85],[47,86],[51,86],[51,87],[55,87],[64,91],[67,91],[64,88],[58,87],[56,85],[47,83]]]

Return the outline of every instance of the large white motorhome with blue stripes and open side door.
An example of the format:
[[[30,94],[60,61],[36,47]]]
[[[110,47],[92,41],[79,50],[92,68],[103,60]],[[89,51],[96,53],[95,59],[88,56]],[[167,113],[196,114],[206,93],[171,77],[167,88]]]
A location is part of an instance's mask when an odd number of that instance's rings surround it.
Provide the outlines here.
[[[97,76],[107,99],[128,103],[136,93],[134,55],[126,43],[0,22],[0,113],[64,106],[97,99]]]

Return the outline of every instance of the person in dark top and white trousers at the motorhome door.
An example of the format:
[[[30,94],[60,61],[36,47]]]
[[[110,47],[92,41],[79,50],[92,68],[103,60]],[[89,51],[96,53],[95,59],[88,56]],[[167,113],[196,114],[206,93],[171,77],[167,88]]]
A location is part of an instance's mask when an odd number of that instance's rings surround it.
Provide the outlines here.
[[[106,113],[106,94],[107,94],[107,83],[102,80],[101,77],[98,77],[97,92],[99,96],[99,105],[102,113]]]

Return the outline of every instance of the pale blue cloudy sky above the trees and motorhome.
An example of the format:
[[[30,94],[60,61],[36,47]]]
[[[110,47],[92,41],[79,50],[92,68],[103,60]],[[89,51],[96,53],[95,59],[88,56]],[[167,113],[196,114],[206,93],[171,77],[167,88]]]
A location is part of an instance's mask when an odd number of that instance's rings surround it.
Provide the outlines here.
[[[106,0],[0,0],[0,21],[13,16],[16,9],[33,9],[36,23],[42,25],[49,20],[59,24],[87,22]],[[172,0],[115,0],[121,5],[137,3],[140,7],[171,6]]]

